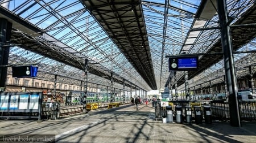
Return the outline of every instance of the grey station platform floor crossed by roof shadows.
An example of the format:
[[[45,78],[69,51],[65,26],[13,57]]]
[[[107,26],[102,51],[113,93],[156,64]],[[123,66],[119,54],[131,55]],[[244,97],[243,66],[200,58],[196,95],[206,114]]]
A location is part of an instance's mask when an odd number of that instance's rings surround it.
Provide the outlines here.
[[[255,142],[256,123],[163,123],[152,104],[124,105],[63,119],[1,120],[0,135],[55,135],[56,142]]]

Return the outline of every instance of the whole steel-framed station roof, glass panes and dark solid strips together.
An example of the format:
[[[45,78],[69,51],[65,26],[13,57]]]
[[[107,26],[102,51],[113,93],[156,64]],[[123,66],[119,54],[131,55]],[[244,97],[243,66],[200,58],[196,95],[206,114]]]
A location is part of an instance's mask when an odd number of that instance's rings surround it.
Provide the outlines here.
[[[125,80],[148,91],[170,82],[166,55],[200,53],[200,68],[188,73],[189,83],[217,82],[224,75],[218,13],[198,18],[203,2],[0,1],[0,17],[13,23],[6,43],[9,64],[37,64],[42,79],[53,80],[49,75],[55,74],[81,80],[87,58],[89,81],[109,85],[114,73],[114,86]],[[246,74],[246,66],[255,71],[255,5],[254,0],[227,1],[234,51],[242,53],[234,56],[239,75]],[[183,76],[177,72],[180,90]]]

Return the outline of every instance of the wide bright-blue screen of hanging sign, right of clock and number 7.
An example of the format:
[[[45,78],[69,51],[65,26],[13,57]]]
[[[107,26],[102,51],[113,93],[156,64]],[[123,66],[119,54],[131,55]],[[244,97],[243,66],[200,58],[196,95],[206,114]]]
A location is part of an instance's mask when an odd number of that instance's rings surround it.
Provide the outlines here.
[[[178,58],[177,68],[197,68],[197,58]]]

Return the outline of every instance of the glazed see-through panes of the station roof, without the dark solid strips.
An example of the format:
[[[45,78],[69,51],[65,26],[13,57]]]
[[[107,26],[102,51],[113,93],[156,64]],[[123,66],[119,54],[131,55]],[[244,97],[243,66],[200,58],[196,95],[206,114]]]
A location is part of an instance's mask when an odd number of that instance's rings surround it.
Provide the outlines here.
[[[8,8],[6,6],[7,3],[9,4]],[[183,51],[189,54],[207,53],[208,49],[220,38],[219,29],[190,31],[195,28],[218,26],[217,15],[212,20],[195,19],[200,3],[201,1],[187,0],[141,1],[157,89],[166,86],[170,77],[166,55],[176,55]],[[235,18],[233,23],[241,18],[247,8],[255,5],[254,1],[228,1],[227,3],[229,16],[234,16]],[[14,27],[16,33],[24,33],[24,37],[27,35],[34,37],[35,39],[32,39],[32,41],[44,41],[51,50],[56,51],[63,57],[67,56],[76,59],[81,65],[84,59],[88,58],[89,65],[94,66],[97,70],[104,73],[112,71],[117,79],[124,78],[144,90],[151,90],[151,87],[135,70],[130,61],[125,58],[125,55],[118,49],[102,26],[90,15],[82,1],[10,0],[1,1],[0,4],[1,8],[6,7],[11,14],[17,15],[43,32],[42,35],[38,36],[41,33],[26,32]],[[130,11],[132,10],[133,8],[131,7]],[[22,46],[15,45],[15,42],[10,41],[10,44],[13,44],[13,47],[10,47],[9,63],[38,64],[40,71],[38,78],[51,80],[51,78],[45,77],[44,74],[52,73],[81,80],[84,74],[77,67],[61,63],[44,54],[24,49]],[[255,39],[238,50],[245,49],[255,50]],[[241,59],[248,55],[251,54],[237,54],[234,58],[238,61],[237,63],[241,63]],[[250,57],[253,58],[253,56]],[[198,82],[199,79],[205,79],[200,81],[207,82],[209,75],[214,79],[218,72],[224,74],[222,60],[220,62],[216,61],[214,66],[210,66],[195,78],[190,79],[189,84],[195,84],[195,81],[200,84]],[[178,72],[177,75],[181,77],[183,72]],[[108,76],[108,73],[106,73],[106,76]],[[104,79],[104,77],[98,77],[93,73],[89,73],[88,77],[88,81],[93,83],[110,85],[110,81]],[[222,79],[222,77],[216,79]],[[79,85],[80,83],[75,82],[73,84]],[[114,86],[122,89],[121,84],[114,84]],[[184,85],[180,85],[179,90],[183,89]],[[130,89],[127,88],[127,90]]]

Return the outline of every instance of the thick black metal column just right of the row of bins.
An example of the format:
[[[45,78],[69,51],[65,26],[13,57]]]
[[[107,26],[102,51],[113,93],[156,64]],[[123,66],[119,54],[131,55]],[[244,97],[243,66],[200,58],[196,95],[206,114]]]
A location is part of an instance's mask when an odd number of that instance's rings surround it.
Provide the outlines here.
[[[218,18],[220,19],[221,27],[221,44],[224,53],[226,85],[229,97],[230,124],[234,127],[241,127],[240,110],[237,98],[237,79],[234,69],[233,47],[230,38],[230,27],[228,25],[228,12],[226,7],[226,1],[217,0]]]

